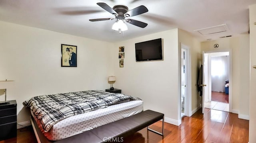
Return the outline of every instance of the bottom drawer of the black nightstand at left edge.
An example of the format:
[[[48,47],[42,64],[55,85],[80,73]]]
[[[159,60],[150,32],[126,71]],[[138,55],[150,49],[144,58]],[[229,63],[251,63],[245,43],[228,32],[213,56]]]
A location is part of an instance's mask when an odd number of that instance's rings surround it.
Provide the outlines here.
[[[0,125],[0,141],[17,135],[17,122],[4,123]]]

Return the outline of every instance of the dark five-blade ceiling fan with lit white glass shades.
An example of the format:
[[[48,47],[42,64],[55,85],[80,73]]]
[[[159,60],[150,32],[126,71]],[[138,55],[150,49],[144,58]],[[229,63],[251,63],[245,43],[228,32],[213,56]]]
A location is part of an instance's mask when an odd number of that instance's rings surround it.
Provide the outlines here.
[[[137,15],[143,14],[145,12],[148,12],[148,9],[145,6],[138,6],[137,8],[134,8],[134,9],[128,11],[128,7],[123,6],[123,5],[117,5],[117,6],[114,6],[113,8],[111,8],[110,6],[108,6],[107,4],[105,4],[103,2],[99,2],[97,4],[98,4],[98,6],[102,7],[104,10],[108,11],[110,14],[113,14],[115,16],[115,18],[91,19],[90,20],[91,22],[116,19],[116,22],[112,26],[112,29],[119,31],[119,33],[121,33],[121,31],[125,31],[128,29],[124,22],[127,22],[132,25],[136,25],[136,26],[142,27],[142,28],[144,28],[148,25],[148,24],[146,24],[144,22],[140,22],[138,20],[126,19],[126,18],[129,18],[132,16],[137,16]]]

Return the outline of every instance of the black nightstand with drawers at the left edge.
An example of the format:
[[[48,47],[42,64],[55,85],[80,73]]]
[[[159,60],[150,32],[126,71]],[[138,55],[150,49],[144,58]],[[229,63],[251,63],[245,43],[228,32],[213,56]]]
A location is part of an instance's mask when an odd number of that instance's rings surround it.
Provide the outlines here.
[[[0,141],[17,136],[17,103],[0,105]]]

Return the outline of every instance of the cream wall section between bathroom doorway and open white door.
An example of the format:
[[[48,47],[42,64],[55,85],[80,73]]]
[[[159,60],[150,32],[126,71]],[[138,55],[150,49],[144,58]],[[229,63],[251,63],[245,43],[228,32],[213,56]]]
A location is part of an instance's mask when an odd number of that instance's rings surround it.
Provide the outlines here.
[[[181,48],[180,43],[190,48],[190,59],[188,59],[188,62],[190,62],[190,67],[188,68],[190,68],[191,71],[191,79],[190,83],[188,83],[189,85],[186,88],[191,92],[191,95],[187,95],[188,98],[191,96],[191,102],[186,104],[187,106],[189,106],[189,114],[187,116],[191,116],[200,108],[200,96],[196,85],[201,61],[201,45],[198,40],[191,36],[187,31],[184,31],[182,29],[178,29],[178,43],[179,52]]]

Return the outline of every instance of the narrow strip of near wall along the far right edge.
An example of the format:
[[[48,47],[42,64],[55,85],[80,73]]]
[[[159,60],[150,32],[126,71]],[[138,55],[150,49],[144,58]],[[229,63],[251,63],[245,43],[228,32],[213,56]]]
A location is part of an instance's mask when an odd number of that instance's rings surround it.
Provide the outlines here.
[[[249,6],[250,15],[250,122],[249,142],[256,143],[256,4]]]

